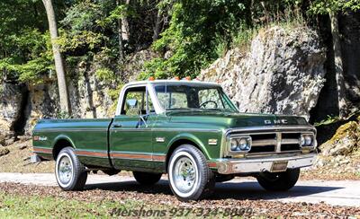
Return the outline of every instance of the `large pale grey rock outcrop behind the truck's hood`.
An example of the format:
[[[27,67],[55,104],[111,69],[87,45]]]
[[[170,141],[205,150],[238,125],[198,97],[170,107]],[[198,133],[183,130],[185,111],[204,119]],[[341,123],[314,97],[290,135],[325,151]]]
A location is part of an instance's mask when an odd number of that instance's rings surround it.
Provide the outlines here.
[[[199,78],[221,83],[244,112],[310,117],[325,83],[325,48],[306,27],[259,31],[247,53],[229,50]]]

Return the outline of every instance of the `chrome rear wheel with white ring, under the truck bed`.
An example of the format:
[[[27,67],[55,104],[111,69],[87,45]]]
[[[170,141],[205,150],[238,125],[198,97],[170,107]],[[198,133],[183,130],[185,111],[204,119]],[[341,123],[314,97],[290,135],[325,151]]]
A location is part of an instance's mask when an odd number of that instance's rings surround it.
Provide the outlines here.
[[[74,167],[67,153],[61,153],[57,162],[57,178],[61,187],[67,187],[73,180]]]

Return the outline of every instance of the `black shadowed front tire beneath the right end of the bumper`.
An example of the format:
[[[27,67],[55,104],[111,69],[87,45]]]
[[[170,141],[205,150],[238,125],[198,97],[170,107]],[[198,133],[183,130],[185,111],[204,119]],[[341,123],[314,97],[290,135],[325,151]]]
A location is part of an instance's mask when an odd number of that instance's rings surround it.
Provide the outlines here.
[[[300,169],[288,169],[284,172],[262,172],[257,176],[257,181],[269,191],[287,191],[295,186],[299,180]]]

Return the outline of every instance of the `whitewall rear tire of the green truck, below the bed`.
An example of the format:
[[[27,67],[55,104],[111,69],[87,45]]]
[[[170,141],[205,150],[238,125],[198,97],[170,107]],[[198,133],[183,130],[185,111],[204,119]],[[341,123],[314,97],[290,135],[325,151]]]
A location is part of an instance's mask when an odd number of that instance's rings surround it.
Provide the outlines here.
[[[66,174],[64,172],[68,171],[61,171],[60,165],[71,167],[71,173]],[[65,169],[66,168],[62,168],[62,170]],[[64,180],[64,177],[62,177],[64,175],[67,175],[69,180]],[[65,191],[82,190],[84,188],[87,180],[87,171],[85,171],[85,166],[79,162],[74,148],[65,147],[58,153],[57,161],[55,163],[55,176],[58,181],[58,186]]]

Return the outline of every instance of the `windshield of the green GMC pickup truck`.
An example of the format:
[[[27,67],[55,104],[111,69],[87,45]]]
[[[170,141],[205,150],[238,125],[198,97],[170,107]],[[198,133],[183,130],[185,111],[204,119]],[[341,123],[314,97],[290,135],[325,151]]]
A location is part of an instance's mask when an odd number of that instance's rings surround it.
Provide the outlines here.
[[[202,84],[167,84],[155,86],[157,99],[166,110],[237,111],[219,86]]]

